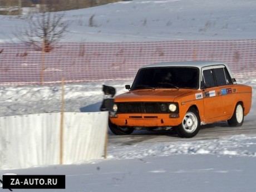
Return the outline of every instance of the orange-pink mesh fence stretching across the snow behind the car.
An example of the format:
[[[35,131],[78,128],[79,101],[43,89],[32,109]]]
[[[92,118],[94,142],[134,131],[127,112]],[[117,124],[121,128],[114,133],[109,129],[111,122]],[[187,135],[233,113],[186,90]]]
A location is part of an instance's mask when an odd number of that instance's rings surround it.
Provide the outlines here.
[[[166,61],[222,61],[236,78],[256,77],[256,40],[58,43],[51,52],[0,44],[0,83],[7,85],[134,78]]]

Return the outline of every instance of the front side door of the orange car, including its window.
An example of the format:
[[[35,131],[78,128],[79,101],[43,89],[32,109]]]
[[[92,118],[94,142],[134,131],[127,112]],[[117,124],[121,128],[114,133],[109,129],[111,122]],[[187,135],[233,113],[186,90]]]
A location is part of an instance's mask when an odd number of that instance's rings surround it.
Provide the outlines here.
[[[204,100],[204,121],[214,122],[223,116],[223,101],[217,86],[214,67],[204,67],[201,72],[201,89]]]

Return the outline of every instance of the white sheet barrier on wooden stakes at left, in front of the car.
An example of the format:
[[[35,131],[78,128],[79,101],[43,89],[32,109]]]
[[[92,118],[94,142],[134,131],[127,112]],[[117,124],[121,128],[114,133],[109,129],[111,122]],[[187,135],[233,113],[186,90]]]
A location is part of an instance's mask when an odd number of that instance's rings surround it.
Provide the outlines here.
[[[60,164],[61,114],[0,117],[0,169]],[[108,112],[65,112],[63,164],[99,159]]]

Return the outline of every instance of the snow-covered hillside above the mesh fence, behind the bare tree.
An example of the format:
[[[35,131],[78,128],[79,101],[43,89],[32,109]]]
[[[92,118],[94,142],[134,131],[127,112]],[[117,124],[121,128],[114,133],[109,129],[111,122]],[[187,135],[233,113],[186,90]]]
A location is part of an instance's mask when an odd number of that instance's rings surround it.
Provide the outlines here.
[[[127,42],[254,39],[254,0],[135,0],[67,11],[63,42]],[[27,15],[0,16],[0,42],[16,42],[13,32]],[[92,25],[89,20],[92,17]]]

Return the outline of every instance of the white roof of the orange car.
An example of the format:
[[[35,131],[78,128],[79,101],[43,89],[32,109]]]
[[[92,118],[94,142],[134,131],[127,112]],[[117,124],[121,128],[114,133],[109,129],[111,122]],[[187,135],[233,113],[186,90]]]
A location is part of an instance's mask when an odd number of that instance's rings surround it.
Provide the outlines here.
[[[148,67],[207,67],[207,66],[213,66],[213,65],[224,65],[227,66],[227,64],[220,62],[220,61],[175,61],[175,62],[161,62],[161,63],[154,63],[151,65],[146,65],[141,68],[148,68]]]

